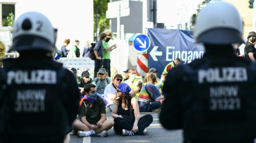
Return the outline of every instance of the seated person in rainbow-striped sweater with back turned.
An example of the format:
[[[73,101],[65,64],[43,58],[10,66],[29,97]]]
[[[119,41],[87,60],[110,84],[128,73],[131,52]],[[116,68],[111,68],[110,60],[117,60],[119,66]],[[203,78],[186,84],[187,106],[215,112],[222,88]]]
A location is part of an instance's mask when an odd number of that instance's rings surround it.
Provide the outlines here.
[[[152,112],[152,109],[158,109],[164,102],[163,96],[154,83],[156,81],[154,73],[148,74],[148,83],[142,86],[138,100],[141,112]]]

